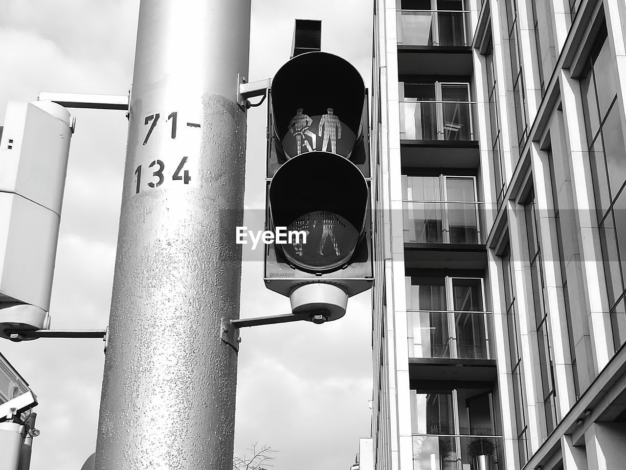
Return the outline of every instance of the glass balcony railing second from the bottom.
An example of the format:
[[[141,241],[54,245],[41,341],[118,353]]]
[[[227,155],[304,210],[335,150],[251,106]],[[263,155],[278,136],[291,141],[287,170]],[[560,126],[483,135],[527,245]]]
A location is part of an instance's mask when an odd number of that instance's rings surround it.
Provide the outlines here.
[[[488,312],[407,312],[409,357],[489,359]]]

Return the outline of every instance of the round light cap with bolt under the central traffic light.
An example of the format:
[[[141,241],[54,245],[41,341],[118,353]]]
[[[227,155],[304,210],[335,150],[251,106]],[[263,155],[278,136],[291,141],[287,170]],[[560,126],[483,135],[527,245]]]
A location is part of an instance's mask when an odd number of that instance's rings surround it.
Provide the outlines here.
[[[294,315],[309,315],[314,323],[337,320],[346,314],[347,293],[323,283],[305,284],[289,295]]]

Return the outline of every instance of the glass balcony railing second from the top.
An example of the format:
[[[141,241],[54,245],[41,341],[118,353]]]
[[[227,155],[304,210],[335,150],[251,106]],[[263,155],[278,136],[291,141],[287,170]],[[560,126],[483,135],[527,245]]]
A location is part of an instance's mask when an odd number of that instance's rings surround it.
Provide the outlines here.
[[[400,102],[400,138],[408,140],[475,140],[472,115],[476,103],[455,101]]]

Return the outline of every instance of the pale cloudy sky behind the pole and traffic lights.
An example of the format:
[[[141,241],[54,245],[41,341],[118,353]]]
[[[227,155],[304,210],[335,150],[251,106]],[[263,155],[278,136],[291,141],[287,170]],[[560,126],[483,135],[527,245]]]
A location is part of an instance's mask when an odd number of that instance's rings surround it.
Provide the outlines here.
[[[274,75],[289,59],[294,19],[304,18],[322,19],[322,50],[351,61],[369,84],[371,3],[252,0],[250,80]],[[35,100],[39,91],[125,95],[132,80],[138,6],[138,0],[3,0],[0,118],[8,100]],[[71,112],[77,126],[54,274],[53,328],[105,328],[127,121],[123,112]],[[247,214],[264,204],[265,113],[265,106],[249,112]],[[241,316],[287,313],[287,298],[265,290],[261,251],[244,258]],[[258,442],[280,451],[275,470],[347,470],[358,438],[369,436],[369,298],[369,293],[351,298],[346,316],[328,325],[242,330],[235,454],[243,456]],[[3,341],[0,352],[38,395],[41,435],[34,440],[31,469],[79,470],[95,449],[103,343]]]

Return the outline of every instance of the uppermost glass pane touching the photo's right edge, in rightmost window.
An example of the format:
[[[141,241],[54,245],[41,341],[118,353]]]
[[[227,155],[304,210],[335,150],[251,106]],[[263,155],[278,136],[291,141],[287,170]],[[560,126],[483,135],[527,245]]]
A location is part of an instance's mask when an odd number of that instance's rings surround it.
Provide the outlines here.
[[[607,159],[608,182],[612,199],[615,199],[626,180],[626,149],[624,148],[622,122],[617,102],[611,108],[607,120],[602,125],[602,137],[604,155]]]

